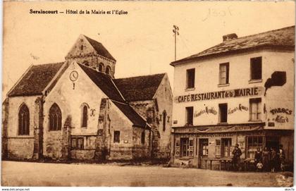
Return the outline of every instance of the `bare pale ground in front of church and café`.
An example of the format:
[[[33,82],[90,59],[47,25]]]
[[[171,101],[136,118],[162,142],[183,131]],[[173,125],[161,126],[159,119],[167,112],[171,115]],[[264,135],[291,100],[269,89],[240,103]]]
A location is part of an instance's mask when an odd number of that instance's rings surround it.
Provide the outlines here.
[[[161,166],[2,162],[3,186],[271,186],[280,173],[210,171]],[[280,178],[283,176],[280,176]],[[285,178],[282,178],[285,182]],[[282,183],[283,183],[282,181]]]

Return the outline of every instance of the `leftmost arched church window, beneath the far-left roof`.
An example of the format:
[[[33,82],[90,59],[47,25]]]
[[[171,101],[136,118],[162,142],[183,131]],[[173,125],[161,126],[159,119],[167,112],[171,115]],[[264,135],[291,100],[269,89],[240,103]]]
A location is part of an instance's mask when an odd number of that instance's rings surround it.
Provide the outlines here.
[[[18,111],[18,135],[30,135],[30,113],[25,104]]]

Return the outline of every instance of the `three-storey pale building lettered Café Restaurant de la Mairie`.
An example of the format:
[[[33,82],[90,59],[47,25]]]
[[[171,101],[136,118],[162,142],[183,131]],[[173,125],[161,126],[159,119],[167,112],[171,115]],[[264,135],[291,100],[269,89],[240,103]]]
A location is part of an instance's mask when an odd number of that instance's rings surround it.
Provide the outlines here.
[[[294,159],[295,27],[223,42],[171,63],[174,67],[173,164],[219,168],[231,159],[254,161],[259,147],[283,144]]]

